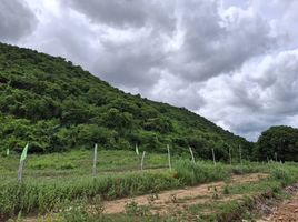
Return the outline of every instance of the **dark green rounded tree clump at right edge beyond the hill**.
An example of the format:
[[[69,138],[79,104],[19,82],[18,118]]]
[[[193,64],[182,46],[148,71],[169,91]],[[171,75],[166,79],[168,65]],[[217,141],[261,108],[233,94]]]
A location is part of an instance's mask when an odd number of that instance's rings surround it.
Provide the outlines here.
[[[271,127],[259,137],[255,155],[258,160],[298,161],[298,129]]]

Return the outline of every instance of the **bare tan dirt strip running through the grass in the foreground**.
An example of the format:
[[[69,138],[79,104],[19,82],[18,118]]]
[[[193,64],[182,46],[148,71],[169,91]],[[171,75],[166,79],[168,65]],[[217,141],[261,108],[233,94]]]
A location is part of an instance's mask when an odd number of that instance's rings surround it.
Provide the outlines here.
[[[229,184],[240,184],[259,181],[266,178],[264,173],[252,173],[246,175],[234,175]],[[126,205],[137,203],[138,205],[150,205],[152,213],[168,214],[178,211],[187,205],[203,204],[212,200],[215,195],[221,195],[225,182],[207,183],[198,186],[190,186],[179,190],[165,191],[159,194],[147,194],[136,198],[126,198],[116,201],[105,202],[105,213],[121,213]],[[222,196],[221,201],[240,199],[241,195]]]

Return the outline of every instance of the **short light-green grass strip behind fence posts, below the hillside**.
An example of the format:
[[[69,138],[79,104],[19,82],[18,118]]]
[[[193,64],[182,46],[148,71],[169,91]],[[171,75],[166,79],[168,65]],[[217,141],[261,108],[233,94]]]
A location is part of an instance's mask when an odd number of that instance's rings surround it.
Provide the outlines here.
[[[30,154],[26,164],[26,173],[29,176],[40,176],[40,172],[47,174],[52,172],[51,176],[59,173],[68,172],[71,174],[90,174],[92,168],[92,151],[74,150],[64,153],[52,154]],[[176,159],[173,159],[176,161]],[[0,173],[1,175],[16,173],[19,164],[19,155],[12,154],[8,158],[0,157]],[[145,158],[145,168],[167,168],[168,159],[166,154],[147,153]],[[139,170],[139,158],[133,151],[101,150],[98,152],[98,171],[129,171]],[[64,171],[68,170],[68,171]],[[62,171],[62,172],[61,172]],[[62,173],[64,174],[64,173]]]

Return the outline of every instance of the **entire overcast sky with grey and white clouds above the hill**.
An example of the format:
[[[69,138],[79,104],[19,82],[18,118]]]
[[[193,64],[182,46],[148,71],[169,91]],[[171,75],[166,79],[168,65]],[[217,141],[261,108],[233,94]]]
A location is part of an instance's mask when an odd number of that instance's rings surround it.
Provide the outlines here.
[[[0,41],[249,140],[298,127],[297,0],[1,0]]]

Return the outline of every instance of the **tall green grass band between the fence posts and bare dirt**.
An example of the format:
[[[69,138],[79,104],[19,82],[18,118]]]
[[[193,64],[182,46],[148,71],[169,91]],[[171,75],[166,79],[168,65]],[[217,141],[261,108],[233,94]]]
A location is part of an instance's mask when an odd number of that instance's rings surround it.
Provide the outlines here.
[[[13,215],[19,211],[29,213],[59,210],[67,200],[90,199],[100,194],[105,200],[137,195],[150,191],[178,188],[177,180],[170,172],[125,173],[117,176],[92,179],[81,176],[67,181],[34,180],[18,184],[17,182],[0,185],[0,215]]]

